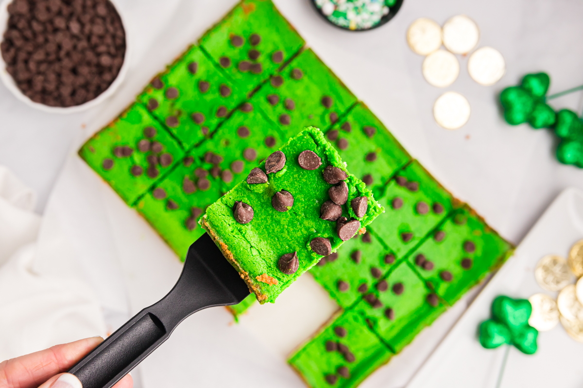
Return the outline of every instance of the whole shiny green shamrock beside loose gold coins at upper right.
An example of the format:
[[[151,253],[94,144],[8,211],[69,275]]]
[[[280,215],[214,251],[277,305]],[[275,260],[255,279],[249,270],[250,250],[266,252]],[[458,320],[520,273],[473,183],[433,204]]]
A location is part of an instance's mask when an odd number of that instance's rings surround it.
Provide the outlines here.
[[[505,88],[500,94],[504,108],[504,119],[508,124],[525,122],[535,129],[551,127],[556,114],[545,102],[550,78],[546,73],[526,74],[519,86]]]

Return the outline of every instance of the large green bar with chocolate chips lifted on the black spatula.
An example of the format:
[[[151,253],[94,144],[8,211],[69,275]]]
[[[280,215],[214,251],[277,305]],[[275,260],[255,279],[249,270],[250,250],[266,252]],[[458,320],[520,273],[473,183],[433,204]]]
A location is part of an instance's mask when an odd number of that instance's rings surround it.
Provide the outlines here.
[[[201,225],[265,303],[382,211],[309,127],[210,205]]]

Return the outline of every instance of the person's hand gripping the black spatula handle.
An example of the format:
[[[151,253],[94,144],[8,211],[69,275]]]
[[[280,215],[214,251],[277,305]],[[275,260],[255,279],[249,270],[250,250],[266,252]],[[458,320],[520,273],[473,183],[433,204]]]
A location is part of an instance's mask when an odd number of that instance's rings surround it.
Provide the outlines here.
[[[101,337],[86,338],[0,362],[0,388],[82,388],[78,378],[63,372],[101,341]],[[132,376],[126,375],[113,388],[133,386]]]

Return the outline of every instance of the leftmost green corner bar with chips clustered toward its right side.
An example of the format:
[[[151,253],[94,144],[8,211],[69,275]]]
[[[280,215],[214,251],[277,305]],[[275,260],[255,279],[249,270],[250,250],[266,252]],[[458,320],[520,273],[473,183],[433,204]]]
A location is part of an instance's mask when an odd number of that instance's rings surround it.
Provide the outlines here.
[[[132,205],[184,151],[140,104],[133,104],[79,149],[79,155]]]

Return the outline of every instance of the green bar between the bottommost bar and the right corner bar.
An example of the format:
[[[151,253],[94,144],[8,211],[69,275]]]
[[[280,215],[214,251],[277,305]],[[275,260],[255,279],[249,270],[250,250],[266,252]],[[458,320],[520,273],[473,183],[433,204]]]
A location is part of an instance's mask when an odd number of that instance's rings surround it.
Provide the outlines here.
[[[445,307],[407,261],[396,265],[381,282],[354,306],[354,311],[366,318],[392,351],[399,353]]]

